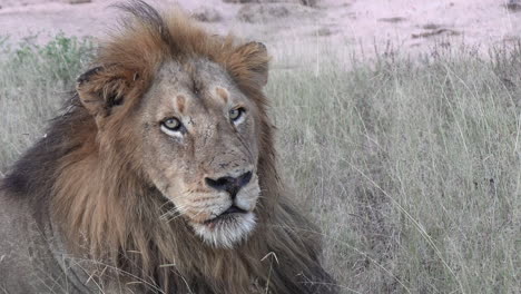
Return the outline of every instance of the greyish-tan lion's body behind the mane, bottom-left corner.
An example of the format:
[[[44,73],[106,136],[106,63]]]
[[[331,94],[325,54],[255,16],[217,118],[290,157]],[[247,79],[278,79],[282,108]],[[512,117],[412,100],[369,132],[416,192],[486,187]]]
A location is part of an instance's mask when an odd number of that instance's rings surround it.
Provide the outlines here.
[[[0,292],[67,292],[42,228],[23,198],[0,190]]]

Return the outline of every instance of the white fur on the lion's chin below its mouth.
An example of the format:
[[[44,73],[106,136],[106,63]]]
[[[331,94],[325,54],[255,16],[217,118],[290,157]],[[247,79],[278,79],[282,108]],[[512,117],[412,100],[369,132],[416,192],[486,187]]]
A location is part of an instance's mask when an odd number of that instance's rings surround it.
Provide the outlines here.
[[[255,224],[255,215],[247,213],[237,214],[230,219],[218,220],[214,227],[201,224],[193,224],[193,227],[206,244],[230,249],[252,233]]]

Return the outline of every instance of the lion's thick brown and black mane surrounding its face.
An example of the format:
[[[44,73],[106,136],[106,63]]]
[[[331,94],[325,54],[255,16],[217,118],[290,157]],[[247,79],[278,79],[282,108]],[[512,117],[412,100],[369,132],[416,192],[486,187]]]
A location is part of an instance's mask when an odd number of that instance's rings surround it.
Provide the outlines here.
[[[3,189],[28,197],[35,214],[47,212],[77,255],[114,265],[116,271],[95,271],[99,281],[138,277],[153,293],[239,294],[254,285],[269,293],[336,293],[324,286],[332,280],[320,265],[318,233],[289,204],[276,173],[267,99],[256,75],[267,60],[245,61],[249,52],[237,53],[244,43],[208,35],[180,12],[163,16],[142,1],[118,7],[131,17],[94,61],[105,70],[97,78],[111,86],[90,90],[112,104],[122,99],[124,111],[107,118],[99,134],[72,97],[68,112],[14,165]],[[190,57],[222,65],[262,111],[258,227],[235,249],[205,245],[181,220],[158,222],[165,200],[140,173],[128,126],[119,124],[132,115],[163,62]]]

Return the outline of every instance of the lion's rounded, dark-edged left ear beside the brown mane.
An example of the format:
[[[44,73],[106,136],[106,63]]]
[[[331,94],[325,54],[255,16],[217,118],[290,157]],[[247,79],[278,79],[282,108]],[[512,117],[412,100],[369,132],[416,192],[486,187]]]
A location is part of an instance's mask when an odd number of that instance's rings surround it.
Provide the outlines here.
[[[131,79],[127,70],[96,67],[78,77],[76,90],[90,115],[105,117],[110,115],[114,106],[122,104]]]

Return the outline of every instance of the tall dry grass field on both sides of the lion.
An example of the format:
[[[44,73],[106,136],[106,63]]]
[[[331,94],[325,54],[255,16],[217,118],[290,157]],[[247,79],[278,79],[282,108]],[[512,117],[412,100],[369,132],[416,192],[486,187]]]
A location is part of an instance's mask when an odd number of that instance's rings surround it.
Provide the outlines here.
[[[519,293],[521,47],[371,60],[332,48],[278,50],[266,91],[279,167],[343,293]],[[0,46],[0,176],[95,49]]]

